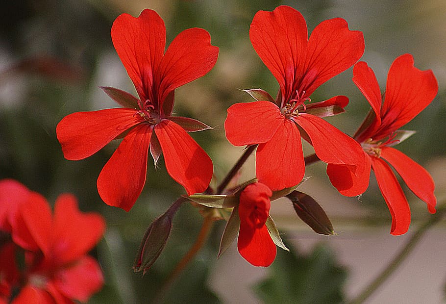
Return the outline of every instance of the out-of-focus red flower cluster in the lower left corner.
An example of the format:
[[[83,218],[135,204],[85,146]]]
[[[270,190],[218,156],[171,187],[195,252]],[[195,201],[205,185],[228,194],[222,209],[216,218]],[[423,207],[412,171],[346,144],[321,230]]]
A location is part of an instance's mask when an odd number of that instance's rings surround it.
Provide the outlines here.
[[[104,283],[98,262],[87,254],[104,229],[102,217],[79,212],[70,194],[57,198],[51,214],[40,194],[1,180],[0,303],[87,302]]]

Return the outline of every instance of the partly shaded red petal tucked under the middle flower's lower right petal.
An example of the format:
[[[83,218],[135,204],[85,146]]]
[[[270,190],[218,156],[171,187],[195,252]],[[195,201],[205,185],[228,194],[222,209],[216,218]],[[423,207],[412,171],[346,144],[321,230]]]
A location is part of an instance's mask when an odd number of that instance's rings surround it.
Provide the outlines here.
[[[364,165],[356,167],[352,172],[348,166],[327,164],[327,175],[331,184],[345,196],[357,196],[364,193],[369,187],[371,160],[364,157]]]

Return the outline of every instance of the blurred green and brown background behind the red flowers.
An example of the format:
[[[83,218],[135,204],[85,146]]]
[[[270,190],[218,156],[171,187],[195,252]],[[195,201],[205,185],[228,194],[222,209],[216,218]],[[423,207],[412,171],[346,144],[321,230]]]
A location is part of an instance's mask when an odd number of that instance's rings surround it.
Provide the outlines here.
[[[90,303],[337,303],[357,295],[380,273],[430,214],[403,186],[412,209],[406,235],[389,234],[390,213],[374,177],[360,198],[342,197],[330,185],[323,164],[307,167],[311,176],[300,188],[325,209],[337,236],[320,236],[303,224],[292,204],[272,205],[273,218],[292,253],[278,249],[273,265],[249,265],[232,246],[217,259],[224,222],[171,288],[159,294],[175,264],[193,244],[202,223],[198,210],[184,204],[159,259],[142,276],[131,270],[145,229],[184,194],[161,160],[149,163],[143,194],[125,212],[103,203],[96,179],[116,149],[111,143],[80,161],[65,160],[55,136],[57,123],[76,111],[116,107],[98,86],[136,94],[113,49],[110,28],[121,13],[158,12],[167,42],[182,30],[202,27],[220,48],[215,68],[175,91],[175,113],[214,127],[193,137],[214,161],[220,181],[241,155],[224,137],[226,109],[251,101],[240,89],[262,88],[275,96],[278,84],[249,42],[248,29],[258,10],[287,4],[299,10],[309,32],[325,19],[342,17],[364,33],[365,60],[385,88],[387,72],[400,54],[411,53],[416,67],[432,69],[439,82],[436,99],[404,128],[417,130],[398,149],[423,165],[436,182],[439,203],[446,203],[446,3],[443,0],[368,1],[219,1],[219,0],[2,0],[0,2],[0,178],[10,177],[46,196],[64,192],[79,199],[83,211],[107,221],[104,239],[92,253],[106,284]],[[329,122],[353,134],[369,105],[351,81],[351,69],[323,84],[313,95],[350,99],[347,112]],[[420,99],[423,92],[419,92]],[[305,147],[307,153],[311,153]],[[149,160],[150,162],[150,160]],[[241,180],[254,177],[251,157]],[[402,266],[367,303],[443,303],[446,292],[445,221],[431,229]],[[155,300],[154,300],[155,299]]]

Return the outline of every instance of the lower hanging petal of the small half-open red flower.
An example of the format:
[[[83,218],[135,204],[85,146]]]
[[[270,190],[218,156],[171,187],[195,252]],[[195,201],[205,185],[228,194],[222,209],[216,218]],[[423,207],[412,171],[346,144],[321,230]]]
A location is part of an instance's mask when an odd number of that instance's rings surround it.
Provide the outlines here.
[[[262,267],[268,267],[273,263],[277,251],[266,226],[252,229],[243,220],[240,221],[237,248],[249,263]]]

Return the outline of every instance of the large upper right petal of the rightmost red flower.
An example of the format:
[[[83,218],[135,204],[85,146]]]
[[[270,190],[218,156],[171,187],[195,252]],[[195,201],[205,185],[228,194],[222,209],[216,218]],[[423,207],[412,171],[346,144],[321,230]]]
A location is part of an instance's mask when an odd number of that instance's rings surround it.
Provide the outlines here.
[[[385,137],[417,116],[437,95],[438,83],[431,70],[414,67],[411,54],[395,59],[387,76],[381,110],[382,125],[376,139]]]

